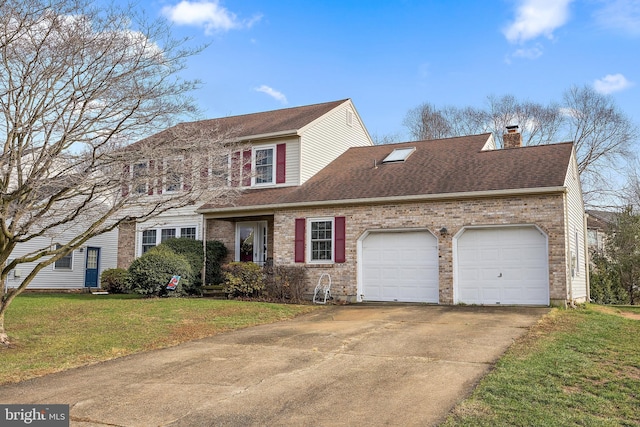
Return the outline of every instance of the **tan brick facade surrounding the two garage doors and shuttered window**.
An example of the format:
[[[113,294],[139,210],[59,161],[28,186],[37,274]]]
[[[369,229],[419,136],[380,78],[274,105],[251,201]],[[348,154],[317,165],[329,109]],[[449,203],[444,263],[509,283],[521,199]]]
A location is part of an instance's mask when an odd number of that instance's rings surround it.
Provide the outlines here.
[[[333,282],[333,295],[355,301],[358,239],[368,230],[419,228],[428,229],[438,239],[440,304],[452,304],[453,240],[456,234],[466,226],[527,224],[537,226],[548,237],[551,301],[567,299],[562,194],[283,210],[274,215],[274,263],[295,264],[296,218],[330,216],[346,217],[347,261],[330,265],[306,264],[309,293],[313,292],[320,275],[328,272]],[[440,233],[443,227],[447,229],[445,235]]]

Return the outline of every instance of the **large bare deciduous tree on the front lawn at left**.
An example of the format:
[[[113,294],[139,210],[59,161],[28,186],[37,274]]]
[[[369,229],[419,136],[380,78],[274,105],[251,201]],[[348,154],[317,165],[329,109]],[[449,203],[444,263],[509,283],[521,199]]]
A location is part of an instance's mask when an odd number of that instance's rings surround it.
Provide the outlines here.
[[[189,93],[198,83],[178,73],[200,50],[133,9],[0,3],[0,343],[8,342],[4,316],[14,298],[91,237],[233,196],[222,172],[228,129],[185,124],[129,146],[196,111]],[[160,194],[178,183],[181,191]],[[12,258],[17,246],[41,241]],[[10,271],[24,263],[35,268],[7,288]]]

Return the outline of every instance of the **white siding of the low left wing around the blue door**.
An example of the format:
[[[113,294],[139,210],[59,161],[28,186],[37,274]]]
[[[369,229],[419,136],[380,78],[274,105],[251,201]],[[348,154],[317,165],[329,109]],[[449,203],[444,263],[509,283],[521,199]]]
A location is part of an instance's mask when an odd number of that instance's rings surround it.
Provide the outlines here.
[[[74,236],[76,232],[69,231],[68,236],[66,234],[57,236],[55,240],[59,242],[66,242],[70,237]],[[37,248],[51,245],[51,239],[46,237],[39,237],[30,241],[18,245],[12,252],[11,258],[18,258],[21,255],[27,254]],[[71,253],[73,257],[73,268],[60,269],[55,268],[53,265],[46,267],[38,273],[33,279],[28,289],[83,289],[84,288],[84,273],[85,263],[87,258],[87,247],[100,248],[100,271],[102,274],[107,268],[115,268],[118,258],[118,230],[113,230],[100,236],[89,239],[82,247],[82,249],[76,249]],[[10,288],[17,287],[22,282],[22,279],[33,270],[37,262],[20,264],[9,275],[7,280],[7,286]]]

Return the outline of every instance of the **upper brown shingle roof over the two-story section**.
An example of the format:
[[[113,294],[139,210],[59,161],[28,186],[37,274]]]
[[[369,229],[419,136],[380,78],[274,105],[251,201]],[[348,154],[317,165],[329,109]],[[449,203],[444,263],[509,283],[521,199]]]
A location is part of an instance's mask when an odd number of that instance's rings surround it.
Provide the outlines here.
[[[179,131],[181,128],[189,132],[197,132],[200,130],[218,131],[220,134],[230,132],[230,137],[235,139],[294,135],[314,120],[347,101],[350,100],[342,99],[302,107],[179,123],[176,126],[132,144],[130,147],[140,143],[163,142],[170,137],[172,133]]]

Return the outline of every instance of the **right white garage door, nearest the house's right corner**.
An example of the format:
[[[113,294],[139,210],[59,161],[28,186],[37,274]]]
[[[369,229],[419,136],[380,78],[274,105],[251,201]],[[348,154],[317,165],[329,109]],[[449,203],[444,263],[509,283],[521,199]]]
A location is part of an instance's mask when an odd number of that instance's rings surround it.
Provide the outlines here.
[[[455,302],[549,304],[547,239],[535,227],[467,229],[457,240]]]

